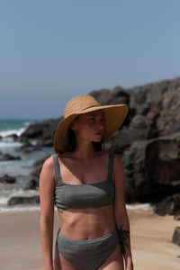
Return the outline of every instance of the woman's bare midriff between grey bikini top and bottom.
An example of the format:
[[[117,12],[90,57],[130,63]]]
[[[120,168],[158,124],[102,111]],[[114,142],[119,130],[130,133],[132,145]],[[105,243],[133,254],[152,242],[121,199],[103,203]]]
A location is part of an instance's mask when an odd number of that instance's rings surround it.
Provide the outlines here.
[[[61,221],[60,232],[64,237],[74,239],[93,239],[108,234],[115,228],[113,204],[71,208],[58,211]]]

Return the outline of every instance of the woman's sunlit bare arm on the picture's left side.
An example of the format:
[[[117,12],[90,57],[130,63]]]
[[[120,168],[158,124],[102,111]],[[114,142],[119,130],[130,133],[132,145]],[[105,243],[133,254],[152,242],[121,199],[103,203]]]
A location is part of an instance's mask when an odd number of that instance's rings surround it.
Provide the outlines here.
[[[53,270],[55,175],[52,157],[45,160],[40,172],[40,240],[45,270]]]

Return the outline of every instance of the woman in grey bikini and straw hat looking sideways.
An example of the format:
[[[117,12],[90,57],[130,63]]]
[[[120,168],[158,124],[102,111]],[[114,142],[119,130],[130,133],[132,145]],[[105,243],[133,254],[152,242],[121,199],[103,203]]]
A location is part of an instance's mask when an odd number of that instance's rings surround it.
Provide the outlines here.
[[[132,270],[121,157],[102,151],[128,113],[88,94],[67,103],[55,155],[40,172],[40,237],[46,270]],[[61,227],[53,266],[54,202]]]

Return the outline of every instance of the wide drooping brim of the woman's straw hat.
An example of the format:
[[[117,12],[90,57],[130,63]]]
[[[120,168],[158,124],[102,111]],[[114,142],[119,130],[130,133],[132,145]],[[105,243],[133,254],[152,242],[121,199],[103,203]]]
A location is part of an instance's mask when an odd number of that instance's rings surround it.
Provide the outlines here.
[[[67,144],[68,127],[70,123],[75,120],[77,115],[84,114],[86,112],[94,112],[97,110],[103,110],[104,112],[105,130],[103,132],[103,140],[107,140],[110,139],[112,135],[121,127],[122,122],[129,112],[129,107],[126,104],[100,105],[69,115],[58,124],[58,128],[54,136],[54,151],[56,153],[63,151],[65,145]]]

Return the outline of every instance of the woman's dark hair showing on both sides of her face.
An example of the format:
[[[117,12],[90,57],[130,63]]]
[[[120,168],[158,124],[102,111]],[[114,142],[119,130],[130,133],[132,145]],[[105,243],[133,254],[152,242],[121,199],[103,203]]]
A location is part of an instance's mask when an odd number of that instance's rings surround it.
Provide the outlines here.
[[[94,151],[101,151],[102,150],[102,141],[96,142],[93,141],[93,147],[94,147]],[[71,130],[70,128],[68,128],[67,130],[67,145],[65,146],[65,151],[66,152],[74,152],[76,150],[76,135],[74,130]]]

